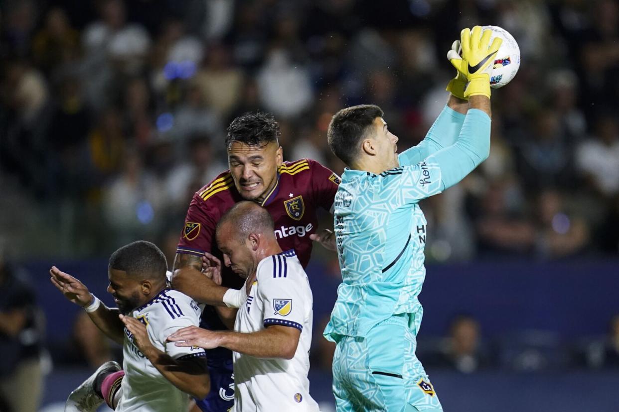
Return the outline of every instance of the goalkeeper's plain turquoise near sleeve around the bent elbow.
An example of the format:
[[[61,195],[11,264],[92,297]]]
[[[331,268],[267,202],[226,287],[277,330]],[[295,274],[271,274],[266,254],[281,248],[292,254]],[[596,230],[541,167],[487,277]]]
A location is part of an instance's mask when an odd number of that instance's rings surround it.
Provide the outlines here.
[[[469,109],[456,142],[431,155],[441,169],[442,190],[455,185],[490,155],[490,116]]]

